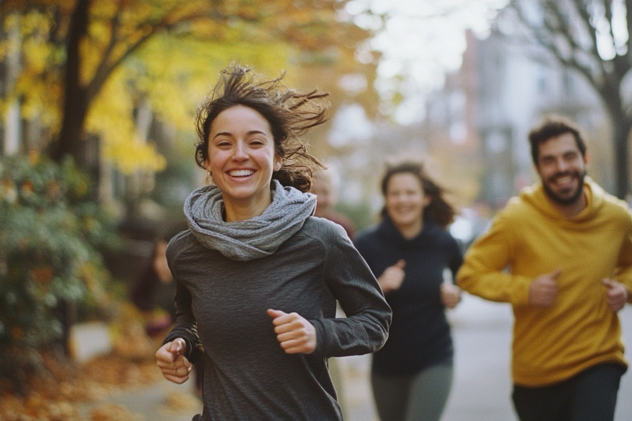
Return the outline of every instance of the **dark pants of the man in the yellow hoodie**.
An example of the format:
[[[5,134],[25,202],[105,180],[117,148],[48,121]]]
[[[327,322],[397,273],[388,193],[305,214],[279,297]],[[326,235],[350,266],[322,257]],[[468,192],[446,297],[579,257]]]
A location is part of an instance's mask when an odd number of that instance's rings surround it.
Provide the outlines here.
[[[514,385],[521,421],[612,421],[625,367],[604,363],[544,387]]]

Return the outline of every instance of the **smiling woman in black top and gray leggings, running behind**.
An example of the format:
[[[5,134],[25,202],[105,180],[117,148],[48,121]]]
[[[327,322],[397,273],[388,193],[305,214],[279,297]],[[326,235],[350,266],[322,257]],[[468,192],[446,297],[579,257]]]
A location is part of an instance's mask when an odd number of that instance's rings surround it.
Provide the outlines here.
[[[387,166],[381,187],[382,221],[355,240],[393,312],[372,361],[375,404],[383,421],[439,420],[453,381],[445,311],[461,298],[453,278],[463,259],[446,229],[455,211],[420,162]]]

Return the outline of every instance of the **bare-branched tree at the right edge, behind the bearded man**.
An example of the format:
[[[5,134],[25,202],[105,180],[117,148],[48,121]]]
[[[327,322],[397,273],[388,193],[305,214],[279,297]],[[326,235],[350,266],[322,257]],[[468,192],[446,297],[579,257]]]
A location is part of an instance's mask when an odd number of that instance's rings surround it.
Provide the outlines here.
[[[616,195],[629,193],[632,101],[632,3],[611,0],[511,0],[497,34],[532,57],[554,59],[581,75],[602,101],[611,122]]]

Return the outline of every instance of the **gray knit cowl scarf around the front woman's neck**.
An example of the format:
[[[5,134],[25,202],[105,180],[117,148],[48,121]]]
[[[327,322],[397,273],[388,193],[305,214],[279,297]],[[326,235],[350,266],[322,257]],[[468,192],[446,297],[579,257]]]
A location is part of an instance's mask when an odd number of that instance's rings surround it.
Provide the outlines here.
[[[269,256],[301,229],[316,209],[316,196],[284,187],[277,180],[270,185],[272,203],[264,213],[244,221],[224,222],[224,200],[217,186],[199,187],[185,200],[185,216],[195,238],[204,247],[229,259],[245,262]]]

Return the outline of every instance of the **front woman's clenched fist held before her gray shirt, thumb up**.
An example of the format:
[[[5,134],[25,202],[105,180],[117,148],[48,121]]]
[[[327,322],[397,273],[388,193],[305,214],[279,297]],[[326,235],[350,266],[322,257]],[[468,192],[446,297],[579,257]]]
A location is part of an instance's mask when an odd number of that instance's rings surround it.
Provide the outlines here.
[[[316,329],[298,313],[285,313],[269,308],[274,333],[281,348],[288,354],[311,354],[316,350]]]

